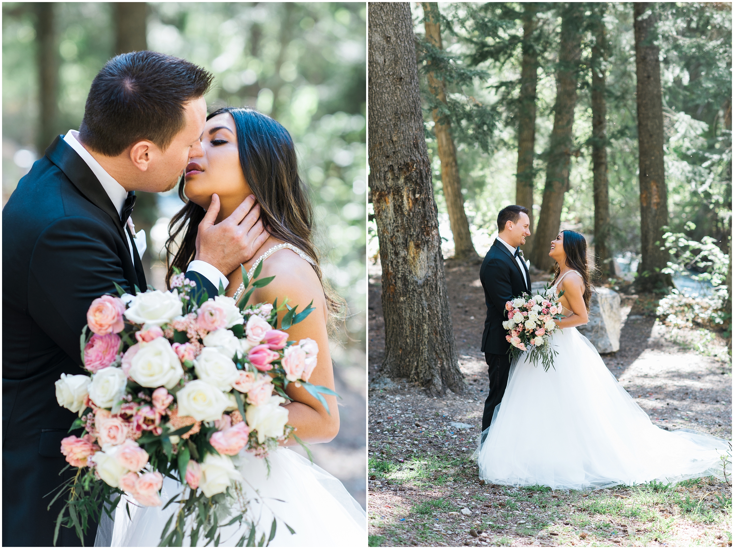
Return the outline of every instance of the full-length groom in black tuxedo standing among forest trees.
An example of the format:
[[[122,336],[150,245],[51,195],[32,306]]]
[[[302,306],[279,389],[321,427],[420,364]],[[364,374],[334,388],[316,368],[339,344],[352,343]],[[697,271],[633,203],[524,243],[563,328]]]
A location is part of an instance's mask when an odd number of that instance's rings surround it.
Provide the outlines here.
[[[487,320],[484,320],[482,353],[487,361],[490,391],[484,401],[482,431],[492,422],[495,407],[502,401],[509,376],[509,343],[502,323],[507,320],[505,303],[531,292],[530,273],[523,259],[520,246],[530,236],[530,218],[524,206],[507,206],[497,215],[499,235],[487,256],[484,257],[479,279],[484,288],[487,303]]]

